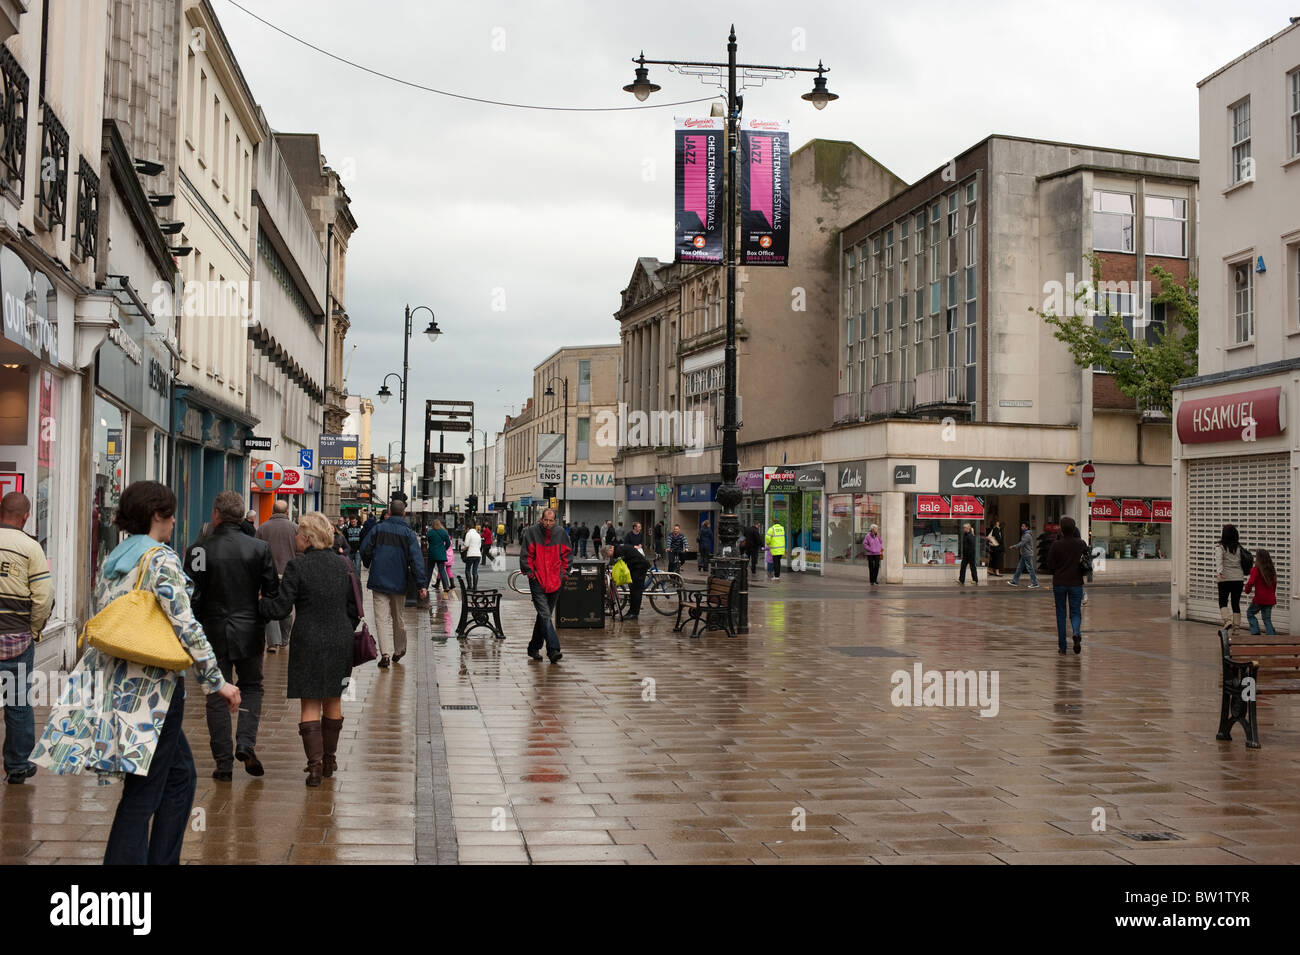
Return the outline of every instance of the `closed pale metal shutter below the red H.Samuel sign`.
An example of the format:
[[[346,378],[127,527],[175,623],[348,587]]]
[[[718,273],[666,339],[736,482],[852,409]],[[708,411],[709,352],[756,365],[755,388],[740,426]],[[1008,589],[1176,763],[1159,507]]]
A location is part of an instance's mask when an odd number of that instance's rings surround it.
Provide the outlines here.
[[[1187,611],[1218,621],[1217,546],[1225,524],[1236,525],[1251,551],[1265,548],[1278,572],[1273,625],[1291,629],[1291,472],[1287,455],[1216,457],[1187,463]],[[1245,625],[1247,598],[1242,598]]]

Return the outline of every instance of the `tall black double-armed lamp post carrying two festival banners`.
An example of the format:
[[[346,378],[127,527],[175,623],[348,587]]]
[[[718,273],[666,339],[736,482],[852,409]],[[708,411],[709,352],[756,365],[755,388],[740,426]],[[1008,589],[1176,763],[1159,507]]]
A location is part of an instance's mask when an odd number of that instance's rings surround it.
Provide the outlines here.
[[[719,551],[727,555],[723,559],[727,574],[740,582],[741,600],[737,621],[740,633],[749,633],[749,561],[740,559],[734,554],[736,539],[740,537],[740,517],[736,508],[744,495],[736,486],[736,476],[740,473],[740,455],[736,448],[736,153],[737,125],[742,100],[736,95],[736,70],[744,71],[745,79],[762,84],[768,79],[784,79],[796,73],[816,73],[812,81],[812,90],[803,94],[802,99],[811,103],[818,109],[824,109],[827,103],[838,99],[836,94],[826,88],[827,70],[820,61],[815,68],[809,66],[767,66],[758,64],[736,62],[736,27],[731,29],[727,38],[727,62],[699,62],[690,60],[646,60],[645,53],[633,58],[637,64],[636,79],[623,87],[638,100],[645,100],[650,94],[660,87],[650,82],[650,70],[646,65],[667,66],[670,70],[688,75],[698,75],[701,79],[716,77],[722,86],[723,71],[727,74],[727,182],[725,182],[725,212],[727,235],[723,242],[723,259],[727,266],[727,346],[723,352],[723,453],[722,453],[722,486],[718,489],[718,500],[723,505],[723,513],[718,518],[716,539]]]

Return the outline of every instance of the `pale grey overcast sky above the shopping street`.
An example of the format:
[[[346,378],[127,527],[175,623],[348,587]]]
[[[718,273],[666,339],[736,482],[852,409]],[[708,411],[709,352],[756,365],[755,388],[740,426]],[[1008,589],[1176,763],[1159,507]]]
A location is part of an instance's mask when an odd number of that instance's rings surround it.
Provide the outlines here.
[[[363,73],[233,0],[212,3],[272,126],[318,133],[347,178],[359,223],[348,391],[373,396],[385,373],[400,373],[404,304],[438,316],[437,344],[420,334],[424,312],[411,340],[408,466],[426,398],[474,401],[495,434],[556,347],[618,340],[612,313],[637,256],[672,255],[672,117],[707,116],[708,103],[588,113],[467,103]],[[801,74],[750,90],[746,116],[789,120],[792,148],[852,140],[907,182],[991,133],[1196,157],[1196,83],[1300,14],[1282,0],[239,3],[402,79],[551,107],[634,105],[621,87],[642,48],[653,60],[725,60],[734,22],[742,62],[822,58],[841,97],[812,109]],[[716,92],[662,66],[650,78],[663,90],[649,105]],[[384,453],[400,437],[400,408],[376,408]]]

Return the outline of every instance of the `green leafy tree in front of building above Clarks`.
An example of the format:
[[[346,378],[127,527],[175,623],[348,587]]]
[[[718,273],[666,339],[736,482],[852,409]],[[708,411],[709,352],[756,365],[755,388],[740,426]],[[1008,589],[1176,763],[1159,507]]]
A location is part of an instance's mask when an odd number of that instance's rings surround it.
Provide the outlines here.
[[[1152,301],[1165,305],[1165,327],[1157,329],[1154,340],[1147,335],[1135,337],[1124,327],[1123,317],[1110,307],[1109,296],[1101,296],[1096,308],[1096,294],[1105,292],[1101,282],[1101,259],[1095,252],[1088,256],[1092,266],[1092,285],[1083,283],[1074,290],[1074,307],[1057,314],[1050,304],[1048,311],[1030,307],[1050,325],[1057,340],[1065,342],[1070,357],[1080,368],[1097,366],[1114,378],[1119,391],[1138,403],[1140,411],[1158,409],[1166,414],[1174,408],[1174,385],[1196,374],[1196,344],[1199,287],[1193,275],[1186,286],[1165,269],[1153,265],[1152,277],[1160,282],[1160,292]],[[1069,292],[1069,290],[1067,290]],[[1105,322],[1097,325],[1093,316],[1100,313]]]

